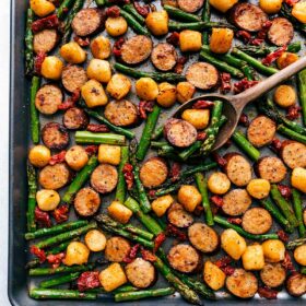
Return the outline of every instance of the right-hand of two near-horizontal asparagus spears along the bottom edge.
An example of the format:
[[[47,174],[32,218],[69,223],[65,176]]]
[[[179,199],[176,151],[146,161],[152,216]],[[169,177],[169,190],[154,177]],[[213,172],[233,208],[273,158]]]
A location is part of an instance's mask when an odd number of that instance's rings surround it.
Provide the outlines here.
[[[166,296],[175,293],[173,287],[149,289],[115,294],[115,302],[139,301],[146,297]]]

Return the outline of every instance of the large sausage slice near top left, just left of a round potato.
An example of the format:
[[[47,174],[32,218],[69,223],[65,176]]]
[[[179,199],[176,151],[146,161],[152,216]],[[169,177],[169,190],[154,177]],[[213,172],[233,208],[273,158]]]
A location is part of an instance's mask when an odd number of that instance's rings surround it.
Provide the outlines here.
[[[73,17],[71,27],[76,36],[89,36],[95,33],[104,23],[104,16],[98,9],[83,9]]]

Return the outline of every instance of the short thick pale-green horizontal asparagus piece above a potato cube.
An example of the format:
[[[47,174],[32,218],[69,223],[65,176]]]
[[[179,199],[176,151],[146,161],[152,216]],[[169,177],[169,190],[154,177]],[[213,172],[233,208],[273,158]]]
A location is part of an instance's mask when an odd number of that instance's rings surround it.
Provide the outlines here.
[[[123,145],[126,143],[126,138],[121,134],[115,134],[115,133],[94,133],[89,131],[76,131],[75,142]]]

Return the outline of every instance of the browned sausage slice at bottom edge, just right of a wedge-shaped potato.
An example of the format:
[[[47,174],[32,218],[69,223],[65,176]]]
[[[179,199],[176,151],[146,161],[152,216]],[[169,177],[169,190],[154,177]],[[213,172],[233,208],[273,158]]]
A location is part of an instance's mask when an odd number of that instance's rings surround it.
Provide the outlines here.
[[[240,298],[250,298],[258,290],[256,276],[244,269],[235,269],[234,273],[226,278],[225,284],[232,294]]]

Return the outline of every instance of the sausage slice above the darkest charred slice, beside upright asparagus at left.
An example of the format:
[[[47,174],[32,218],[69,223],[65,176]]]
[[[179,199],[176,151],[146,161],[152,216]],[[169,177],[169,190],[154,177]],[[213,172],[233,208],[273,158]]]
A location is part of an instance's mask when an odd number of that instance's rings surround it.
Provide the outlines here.
[[[62,92],[58,86],[52,84],[46,84],[40,87],[35,96],[36,108],[45,115],[57,113],[61,102]]]

